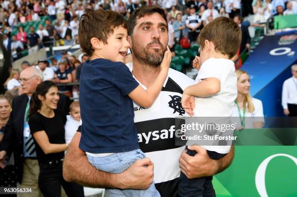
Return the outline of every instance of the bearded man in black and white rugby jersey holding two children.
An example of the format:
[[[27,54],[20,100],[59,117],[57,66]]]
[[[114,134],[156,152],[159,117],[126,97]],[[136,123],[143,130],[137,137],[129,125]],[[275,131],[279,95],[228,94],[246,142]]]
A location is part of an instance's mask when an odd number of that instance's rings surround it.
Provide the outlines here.
[[[149,87],[160,72],[168,43],[166,15],[159,7],[142,7],[131,15],[128,29],[132,37],[133,62],[127,66],[142,87]],[[79,128],[65,157],[65,180],[91,187],[147,189],[154,178],[162,197],[177,197],[181,171],[190,179],[223,171],[231,164],[233,149],[225,157],[213,160],[199,146],[189,147],[198,152],[192,157],[184,151],[185,146],[175,145],[175,118],[186,116],[181,107],[181,96],[183,90],[193,83],[189,77],[169,69],[162,91],[151,107],[144,108],[134,103],[138,141],[147,158],[136,161],[120,174],[97,170],[88,162],[85,152],[78,148]],[[189,103],[194,101],[194,97],[191,99]]]

